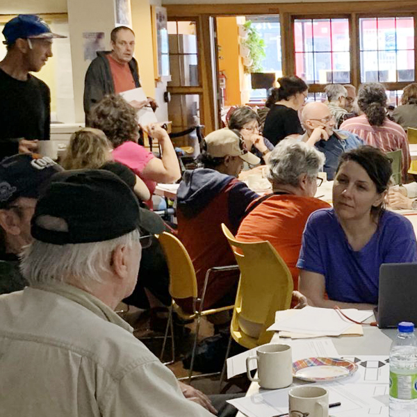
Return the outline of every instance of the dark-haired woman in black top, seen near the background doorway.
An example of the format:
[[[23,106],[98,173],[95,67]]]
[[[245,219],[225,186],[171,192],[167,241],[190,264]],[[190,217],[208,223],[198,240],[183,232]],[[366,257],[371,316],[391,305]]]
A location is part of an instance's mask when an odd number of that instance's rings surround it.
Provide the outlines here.
[[[304,133],[297,111],[306,101],[309,86],[299,77],[283,76],[278,79],[279,88],[272,97],[276,99],[265,119],[263,136],[272,145],[291,135]]]

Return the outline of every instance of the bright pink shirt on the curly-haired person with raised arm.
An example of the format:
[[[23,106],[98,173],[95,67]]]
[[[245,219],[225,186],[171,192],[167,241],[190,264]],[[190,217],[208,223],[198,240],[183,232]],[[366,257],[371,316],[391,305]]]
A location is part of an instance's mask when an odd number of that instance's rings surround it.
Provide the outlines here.
[[[149,188],[151,195],[154,193],[156,182],[142,177],[142,171],[145,169],[147,163],[154,158],[154,154],[147,151],[136,142],[128,140],[122,143],[116,149],[113,149],[113,159],[129,167]]]

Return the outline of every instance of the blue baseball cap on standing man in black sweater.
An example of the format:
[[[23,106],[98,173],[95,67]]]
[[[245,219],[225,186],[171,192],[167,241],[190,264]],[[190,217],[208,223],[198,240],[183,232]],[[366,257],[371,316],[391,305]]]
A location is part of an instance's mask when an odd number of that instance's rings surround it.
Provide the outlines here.
[[[6,39],[3,44],[13,44],[17,39],[51,39],[67,38],[51,32],[51,28],[37,15],[19,15],[9,20],[3,28]]]

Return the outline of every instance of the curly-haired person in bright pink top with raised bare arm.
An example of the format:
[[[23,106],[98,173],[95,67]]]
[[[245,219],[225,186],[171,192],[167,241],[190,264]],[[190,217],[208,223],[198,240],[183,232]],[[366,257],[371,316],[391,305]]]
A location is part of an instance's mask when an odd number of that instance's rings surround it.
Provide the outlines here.
[[[140,177],[152,195],[156,183],[170,183],[181,177],[177,155],[167,132],[152,124],[145,129],[161,145],[162,158],[138,145],[136,110],[119,95],[108,95],[91,112],[92,127],[104,131],[113,145],[113,159]]]

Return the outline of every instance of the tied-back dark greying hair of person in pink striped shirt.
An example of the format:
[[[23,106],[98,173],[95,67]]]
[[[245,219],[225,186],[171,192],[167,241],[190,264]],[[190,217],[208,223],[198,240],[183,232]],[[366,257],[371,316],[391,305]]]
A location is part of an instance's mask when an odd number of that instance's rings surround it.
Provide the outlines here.
[[[364,83],[359,87],[358,106],[371,126],[382,126],[386,117],[386,92],[380,83]]]

